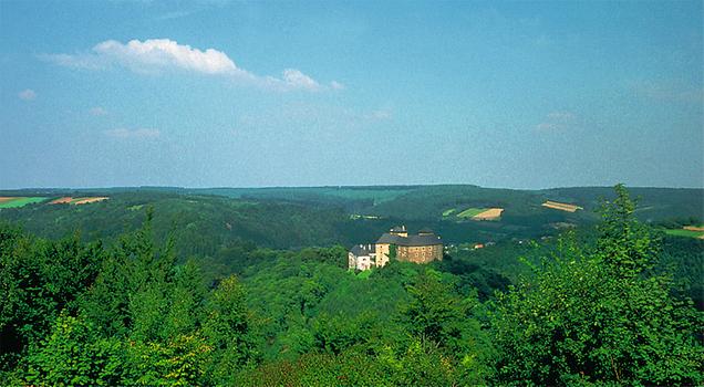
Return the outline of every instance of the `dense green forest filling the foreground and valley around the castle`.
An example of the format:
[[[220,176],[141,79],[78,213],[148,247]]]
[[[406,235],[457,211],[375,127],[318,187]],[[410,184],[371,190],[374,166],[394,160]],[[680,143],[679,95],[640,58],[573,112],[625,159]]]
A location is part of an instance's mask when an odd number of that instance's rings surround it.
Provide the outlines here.
[[[621,186],[576,230],[469,223],[496,244],[360,273],[345,247],[397,219],[205,194],[2,211],[3,384],[704,383],[704,241],[639,220]]]

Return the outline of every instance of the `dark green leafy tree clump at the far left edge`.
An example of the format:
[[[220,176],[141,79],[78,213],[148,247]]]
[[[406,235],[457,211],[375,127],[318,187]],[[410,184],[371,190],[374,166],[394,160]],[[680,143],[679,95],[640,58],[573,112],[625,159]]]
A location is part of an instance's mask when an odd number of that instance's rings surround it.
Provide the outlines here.
[[[44,337],[62,310],[76,310],[102,257],[100,243],[82,245],[77,234],[46,241],[0,224],[0,364]]]

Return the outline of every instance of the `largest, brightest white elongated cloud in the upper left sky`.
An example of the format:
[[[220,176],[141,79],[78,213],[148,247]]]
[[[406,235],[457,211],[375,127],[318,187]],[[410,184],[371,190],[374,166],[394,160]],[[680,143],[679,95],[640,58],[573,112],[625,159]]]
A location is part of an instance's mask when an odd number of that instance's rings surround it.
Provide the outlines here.
[[[167,71],[222,76],[276,91],[308,91],[343,88],[332,81],[324,85],[297,69],[283,70],[281,76],[260,76],[238,67],[226,53],[215,49],[199,50],[169,39],[115,40],[101,42],[90,52],[76,54],[45,54],[43,60],[83,70],[127,69],[137,74],[159,74]]]

